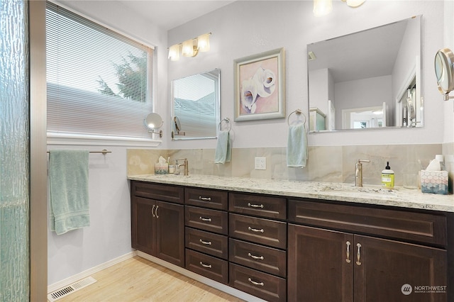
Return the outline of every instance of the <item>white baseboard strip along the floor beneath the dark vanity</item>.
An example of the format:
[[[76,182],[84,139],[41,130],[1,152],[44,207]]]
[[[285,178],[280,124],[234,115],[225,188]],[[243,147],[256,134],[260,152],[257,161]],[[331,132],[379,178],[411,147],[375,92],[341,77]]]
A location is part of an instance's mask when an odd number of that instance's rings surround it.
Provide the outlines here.
[[[228,293],[229,295],[236,296],[240,299],[243,299],[245,301],[253,301],[253,302],[266,302],[265,300],[262,300],[261,298],[257,298],[256,296],[252,296],[249,293],[245,293],[244,291],[238,291],[238,289],[233,289],[233,287],[227,286],[226,284],[222,284],[216,281],[213,281],[209,278],[206,278],[204,276],[201,276],[199,274],[196,274],[194,272],[188,271],[187,269],[184,269],[182,267],[179,267],[175,264],[166,262],[162,259],[159,259],[157,257],[153,257],[151,255],[148,255],[144,252],[137,251],[137,255],[139,257],[145,258],[147,260],[150,260],[151,262],[155,262],[156,264],[162,265],[162,267],[167,267],[167,269],[172,269],[172,271],[175,271],[179,274],[182,274],[184,276],[187,276],[191,279],[194,279],[196,281],[199,281],[203,284],[206,284],[208,286],[213,287],[214,289],[218,289],[219,291],[223,291],[224,293]]]

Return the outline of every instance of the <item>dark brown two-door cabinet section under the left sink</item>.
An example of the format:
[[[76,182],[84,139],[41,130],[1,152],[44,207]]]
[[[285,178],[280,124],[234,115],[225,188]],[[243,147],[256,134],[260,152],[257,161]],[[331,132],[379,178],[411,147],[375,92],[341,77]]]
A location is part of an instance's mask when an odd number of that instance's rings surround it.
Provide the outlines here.
[[[131,181],[132,247],[184,267],[183,189]]]

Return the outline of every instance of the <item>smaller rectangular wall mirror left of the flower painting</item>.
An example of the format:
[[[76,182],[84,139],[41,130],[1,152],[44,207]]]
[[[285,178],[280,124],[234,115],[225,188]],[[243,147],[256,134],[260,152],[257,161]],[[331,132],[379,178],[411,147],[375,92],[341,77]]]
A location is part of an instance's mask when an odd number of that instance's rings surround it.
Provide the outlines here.
[[[171,83],[172,140],[216,138],[220,121],[220,70]]]

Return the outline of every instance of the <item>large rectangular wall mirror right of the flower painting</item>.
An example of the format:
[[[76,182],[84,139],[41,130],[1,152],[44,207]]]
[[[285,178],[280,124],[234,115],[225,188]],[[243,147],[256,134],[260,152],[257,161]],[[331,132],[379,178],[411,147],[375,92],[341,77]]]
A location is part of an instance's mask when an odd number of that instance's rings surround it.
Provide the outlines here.
[[[421,16],[307,45],[311,132],[423,125]]]

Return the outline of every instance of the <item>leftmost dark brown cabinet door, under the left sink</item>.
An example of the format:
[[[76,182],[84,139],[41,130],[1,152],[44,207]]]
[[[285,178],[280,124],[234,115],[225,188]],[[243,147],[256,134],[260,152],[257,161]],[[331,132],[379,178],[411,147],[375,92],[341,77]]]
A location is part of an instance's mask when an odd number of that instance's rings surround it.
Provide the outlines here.
[[[131,238],[136,250],[155,255],[155,201],[133,196],[131,198]]]

